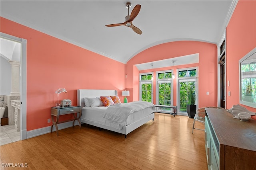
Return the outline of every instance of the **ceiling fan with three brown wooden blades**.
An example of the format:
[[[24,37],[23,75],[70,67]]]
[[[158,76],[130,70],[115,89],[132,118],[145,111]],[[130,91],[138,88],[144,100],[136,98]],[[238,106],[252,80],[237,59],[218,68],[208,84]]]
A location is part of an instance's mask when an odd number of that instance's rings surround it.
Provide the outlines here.
[[[126,8],[128,8],[128,16],[125,17],[125,22],[114,23],[114,24],[110,24],[110,25],[106,25],[106,26],[107,27],[116,27],[116,26],[124,25],[126,27],[132,28],[134,32],[136,32],[138,34],[142,34],[142,31],[132,24],[132,21],[140,12],[141,5],[136,5],[132,10],[131,15],[129,15],[129,9],[131,8],[131,6],[132,6],[132,4],[130,2],[126,3]]]

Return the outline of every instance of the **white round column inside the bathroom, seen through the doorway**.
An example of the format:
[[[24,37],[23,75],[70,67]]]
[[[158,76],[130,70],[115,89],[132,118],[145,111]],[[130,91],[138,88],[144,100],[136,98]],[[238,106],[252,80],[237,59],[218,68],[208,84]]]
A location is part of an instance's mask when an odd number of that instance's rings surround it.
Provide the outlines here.
[[[20,62],[10,60],[12,68],[12,92],[10,96],[20,96]]]

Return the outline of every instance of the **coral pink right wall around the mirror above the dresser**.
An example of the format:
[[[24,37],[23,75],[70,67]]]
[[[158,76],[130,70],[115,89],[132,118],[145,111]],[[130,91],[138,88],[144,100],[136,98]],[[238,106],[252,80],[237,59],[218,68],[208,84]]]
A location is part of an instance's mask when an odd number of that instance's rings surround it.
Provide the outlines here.
[[[230,86],[226,91],[231,93],[231,96],[226,95],[227,108],[239,104],[239,60],[256,47],[255,9],[255,0],[239,0],[227,26],[226,76],[227,81],[230,81]],[[256,112],[255,108],[244,107]]]

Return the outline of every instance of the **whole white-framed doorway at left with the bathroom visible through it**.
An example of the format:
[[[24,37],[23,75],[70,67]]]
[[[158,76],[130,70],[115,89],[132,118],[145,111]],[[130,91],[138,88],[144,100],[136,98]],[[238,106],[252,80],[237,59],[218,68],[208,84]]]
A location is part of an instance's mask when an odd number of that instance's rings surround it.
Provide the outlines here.
[[[26,39],[0,33],[1,145],[26,139]],[[2,118],[2,117],[1,117]],[[1,119],[2,120],[2,119]],[[6,120],[6,119],[5,119]]]

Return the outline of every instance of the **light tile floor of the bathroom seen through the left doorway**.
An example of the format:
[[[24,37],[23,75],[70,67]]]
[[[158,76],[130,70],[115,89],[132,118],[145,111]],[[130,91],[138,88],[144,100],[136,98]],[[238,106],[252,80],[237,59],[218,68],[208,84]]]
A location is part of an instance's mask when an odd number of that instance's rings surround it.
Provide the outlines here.
[[[20,141],[20,132],[14,129],[14,125],[0,126],[0,145]]]

